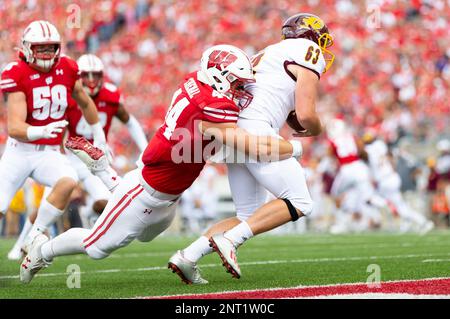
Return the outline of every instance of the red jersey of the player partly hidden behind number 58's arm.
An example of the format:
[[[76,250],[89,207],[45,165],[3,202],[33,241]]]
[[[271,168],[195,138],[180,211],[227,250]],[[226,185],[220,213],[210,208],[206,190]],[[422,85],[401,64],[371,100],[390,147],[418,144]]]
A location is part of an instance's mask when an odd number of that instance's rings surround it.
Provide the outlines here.
[[[97,107],[98,117],[103,131],[105,132],[106,138],[108,138],[112,119],[116,115],[121,102],[120,91],[114,84],[105,82],[93,100]],[[66,119],[69,122],[70,137],[83,136],[92,141],[91,127],[79,107],[70,108],[66,113]]]

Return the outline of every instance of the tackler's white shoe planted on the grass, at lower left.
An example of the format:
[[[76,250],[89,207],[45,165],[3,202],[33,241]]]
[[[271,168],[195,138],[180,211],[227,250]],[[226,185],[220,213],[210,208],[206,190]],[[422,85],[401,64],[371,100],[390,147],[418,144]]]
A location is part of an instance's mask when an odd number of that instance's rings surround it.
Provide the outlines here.
[[[42,258],[41,247],[48,241],[48,237],[41,234],[34,238],[28,255],[20,265],[20,281],[28,284],[42,268],[50,266],[51,262]]]

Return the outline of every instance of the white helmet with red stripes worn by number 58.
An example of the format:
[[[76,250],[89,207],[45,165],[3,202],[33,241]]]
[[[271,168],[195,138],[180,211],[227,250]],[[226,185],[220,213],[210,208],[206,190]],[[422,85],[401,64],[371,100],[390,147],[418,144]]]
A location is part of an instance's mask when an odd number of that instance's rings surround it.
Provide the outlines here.
[[[48,51],[42,47],[45,45],[54,45],[54,48]],[[28,64],[39,70],[49,71],[61,54],[61,37],[58,30],[48,21],[31,22],[22,35],[22,53]]]

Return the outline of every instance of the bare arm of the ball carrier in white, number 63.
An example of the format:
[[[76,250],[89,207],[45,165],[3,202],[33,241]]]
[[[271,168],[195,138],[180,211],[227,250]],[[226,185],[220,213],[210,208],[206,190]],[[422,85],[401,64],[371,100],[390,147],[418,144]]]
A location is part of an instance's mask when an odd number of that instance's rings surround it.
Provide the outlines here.
[[[288,69],[297,79],[295,88],[297,120],[306,129],[305,136],[317,136],[322,133],[322,124],[316,111],[319,78],[313,71],[299,65],[291,64]]]

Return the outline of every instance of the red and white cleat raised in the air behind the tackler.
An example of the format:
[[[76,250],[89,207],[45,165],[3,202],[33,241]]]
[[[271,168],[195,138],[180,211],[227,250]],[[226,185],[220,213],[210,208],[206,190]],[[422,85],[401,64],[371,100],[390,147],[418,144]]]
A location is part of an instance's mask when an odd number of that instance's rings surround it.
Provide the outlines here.
[[[70,137],[65,143],[67,149],[74,153],[92,172],[108,168],[108,159],[98,147],[84,137]]]

